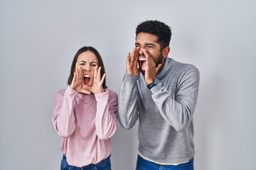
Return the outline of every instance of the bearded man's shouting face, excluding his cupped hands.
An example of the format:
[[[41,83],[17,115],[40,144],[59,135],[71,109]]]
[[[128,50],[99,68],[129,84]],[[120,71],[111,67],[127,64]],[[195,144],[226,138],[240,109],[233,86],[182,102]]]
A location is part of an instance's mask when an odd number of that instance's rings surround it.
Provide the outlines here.
[[[146,49],[151,57],[153,57],[156,67],[158,64],[162,63],[163,56],[161,54],[161,46],[157,42],[157,36],[149,33],[139,33],[136,38],[135,47],[140,47],[141,49]],[[139,50],[139,69],[142,73],[146,69],[146,57],[142,50]]]

